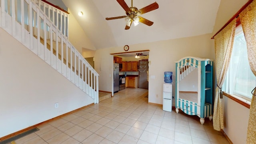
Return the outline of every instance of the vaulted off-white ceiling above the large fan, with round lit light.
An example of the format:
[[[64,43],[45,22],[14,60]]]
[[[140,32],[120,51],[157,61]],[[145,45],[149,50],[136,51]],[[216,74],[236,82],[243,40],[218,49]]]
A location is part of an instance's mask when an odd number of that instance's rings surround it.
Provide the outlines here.
[[[124,30],[125,16],[116,0],[62,0],[80,23],[96,49],[155,42],[212,33],[220,0],[157,0],[159,8],[141,16],[154,22]],[[131,6],[131,0],[125,0]],[[138,9],[155,0],[133,0]],[[84,16],[79,17],[82,11]]]

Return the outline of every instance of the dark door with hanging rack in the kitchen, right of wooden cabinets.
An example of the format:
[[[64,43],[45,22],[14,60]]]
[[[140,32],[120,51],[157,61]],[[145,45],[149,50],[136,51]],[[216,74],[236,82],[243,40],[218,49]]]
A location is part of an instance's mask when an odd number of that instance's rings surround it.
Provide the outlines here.
[[[147,80],[148,60],[139,61],[139,88],[148,89]]]

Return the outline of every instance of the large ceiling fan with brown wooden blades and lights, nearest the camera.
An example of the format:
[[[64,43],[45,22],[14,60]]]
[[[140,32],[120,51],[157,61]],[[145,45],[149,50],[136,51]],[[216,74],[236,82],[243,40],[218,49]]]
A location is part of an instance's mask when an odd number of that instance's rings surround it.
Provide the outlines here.
[[[151,22],[150,20],[147,20],[146,18],[141,17],[140,15],[150,12],[152,10],[158,9],[159,6],[156,2],[138,10],[138,8],[133,7],[133,6],[131,6],[129,8],[124,0],[116,0],[116,1],[125,10],[126,16],[117,16],[117,17],[112,17],[112,18],[106,18],[106,20],[125,18],[125,22],[126,22],[125,30],[130,29],[132,22],[134,22],[134,26],[138,25],[139,22],[146,24],[148,26],[152,26],[152,24],[154,23],[154,22]]]

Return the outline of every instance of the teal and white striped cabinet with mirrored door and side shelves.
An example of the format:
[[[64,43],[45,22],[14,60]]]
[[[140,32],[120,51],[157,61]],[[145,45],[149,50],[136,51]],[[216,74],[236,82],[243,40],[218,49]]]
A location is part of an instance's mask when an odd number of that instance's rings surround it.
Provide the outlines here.
[[[189,115],[212,120],[213,60],[185,57],[175,62],[175,107]]]

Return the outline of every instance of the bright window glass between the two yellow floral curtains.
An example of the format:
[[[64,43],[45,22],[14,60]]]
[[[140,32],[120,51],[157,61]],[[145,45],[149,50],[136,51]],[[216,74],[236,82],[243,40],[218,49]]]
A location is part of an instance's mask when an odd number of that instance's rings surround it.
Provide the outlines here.
[[[249,66],[246,41],[240,25],[236,28],[230,66],[223,90],[250,101],[251,92],[255,86],[256,77]]]

